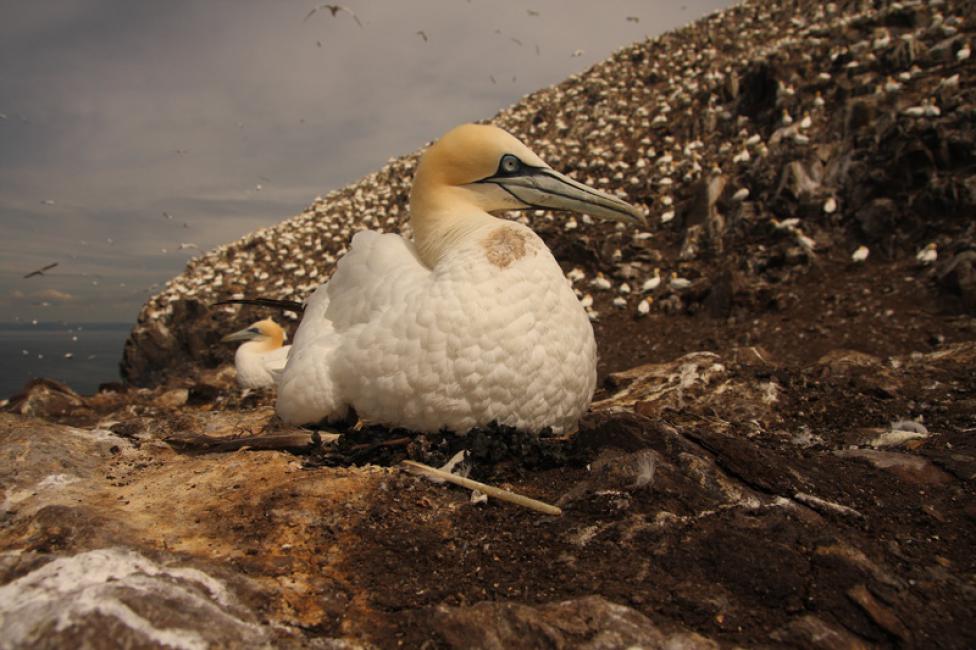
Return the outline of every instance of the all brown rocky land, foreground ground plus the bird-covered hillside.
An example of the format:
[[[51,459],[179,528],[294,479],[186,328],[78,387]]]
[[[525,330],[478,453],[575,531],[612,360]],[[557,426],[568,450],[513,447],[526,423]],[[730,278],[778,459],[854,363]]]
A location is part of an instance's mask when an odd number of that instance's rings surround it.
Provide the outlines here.
[[[973,647],[974,15],[746,2],[494,120],[651,215],[523,215],[597,332],[571,438],[334,441],[233,387],[217,340],[266,314],[208,305],[304,297],[352,231],[402,225],[415,156],[197,258],[143,310],[128,385],[4,406],[2,638]],[[399,466],[462,448],[562,515]]]

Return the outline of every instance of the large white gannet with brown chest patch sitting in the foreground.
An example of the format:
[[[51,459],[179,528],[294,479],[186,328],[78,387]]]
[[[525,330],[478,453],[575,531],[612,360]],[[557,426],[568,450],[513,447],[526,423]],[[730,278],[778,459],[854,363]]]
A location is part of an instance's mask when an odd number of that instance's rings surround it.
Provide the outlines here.
[[[542,239],[490,213],[643,223],[641,212],[472,124],[424,153],[410,206],[414,241],[356,233],[309,297],[277,383],[278,415],[307,424],[352,407],[414,431],[571,429],[596,385],[593,328]]]

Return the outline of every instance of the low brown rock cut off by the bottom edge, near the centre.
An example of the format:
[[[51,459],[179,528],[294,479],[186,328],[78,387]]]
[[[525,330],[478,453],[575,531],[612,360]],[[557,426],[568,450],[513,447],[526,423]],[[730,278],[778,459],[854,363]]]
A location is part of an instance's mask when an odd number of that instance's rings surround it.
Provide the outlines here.
[[[495,650],[512,647],[705,650],[719,646],[688,632],[661,631],[638,612],[599,596],[529,607],[518,603],[478,603],[439,607],[434,629],[452,648]]]

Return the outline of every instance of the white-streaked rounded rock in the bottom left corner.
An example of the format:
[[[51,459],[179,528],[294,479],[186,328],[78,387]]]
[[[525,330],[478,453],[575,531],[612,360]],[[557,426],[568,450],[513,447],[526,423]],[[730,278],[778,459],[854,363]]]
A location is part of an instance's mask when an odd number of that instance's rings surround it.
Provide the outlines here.
[[[254,647],[272,640],[228,584],[175,558],[105,548],[28,554],[17,563],[31,568],[0,587],[6,647],[103,647],[107,639],[113,647]]]

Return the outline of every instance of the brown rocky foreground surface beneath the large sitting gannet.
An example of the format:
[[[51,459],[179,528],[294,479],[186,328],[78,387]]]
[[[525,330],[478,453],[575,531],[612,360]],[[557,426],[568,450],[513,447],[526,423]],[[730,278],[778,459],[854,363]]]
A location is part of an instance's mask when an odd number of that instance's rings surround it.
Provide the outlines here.
[[[971,647],[974,359],[879,359],[891,396],[686,355],[615,376],[570,440],[349,428],[261,451],[302,438],[229,395],[149,391],[94,427],[0,415],[0,626],[16,647]],[[872,446],[907,416],[924,437]],[[460,448],[562,516],[384,467]]]

